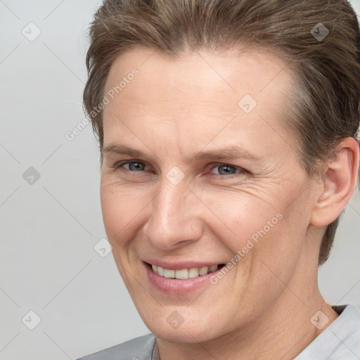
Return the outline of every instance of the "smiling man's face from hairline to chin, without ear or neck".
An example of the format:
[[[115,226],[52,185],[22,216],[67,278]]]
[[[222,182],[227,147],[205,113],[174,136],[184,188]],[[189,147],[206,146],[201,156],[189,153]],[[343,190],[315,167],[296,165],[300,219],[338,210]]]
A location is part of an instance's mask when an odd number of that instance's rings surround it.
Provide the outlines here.
[[[284,284],[299,285],[309,266],[311,188],[286,127],[293,77],[284,66],[260,51],[175,59],[149,49],[112,65],[103,220],[159,338],[219,338],[298,302]]]

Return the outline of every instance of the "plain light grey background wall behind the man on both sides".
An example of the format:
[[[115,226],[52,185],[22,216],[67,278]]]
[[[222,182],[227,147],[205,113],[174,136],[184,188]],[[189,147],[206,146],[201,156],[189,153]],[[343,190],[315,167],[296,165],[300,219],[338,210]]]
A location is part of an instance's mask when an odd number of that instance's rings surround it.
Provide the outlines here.
[[[94,250],[106,236],[91,125],[65,138],[84,119],[84,33],[100,4],[0,0],[0,360],[77,359],[149,332],[112,254]],[[359,232],[356,192],[320,270],[330,303],[360,306]]]

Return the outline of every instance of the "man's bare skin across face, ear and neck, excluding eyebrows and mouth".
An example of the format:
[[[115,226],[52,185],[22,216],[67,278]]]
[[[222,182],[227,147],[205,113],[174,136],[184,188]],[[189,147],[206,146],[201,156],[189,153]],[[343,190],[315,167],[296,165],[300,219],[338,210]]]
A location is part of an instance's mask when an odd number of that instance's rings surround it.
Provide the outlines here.
[[[161,360],[293,359],[338,317],[319,292],[319,246],[354,192],[359,144],[345,139],[323,176],[307,178],[285,126],[293,77],[284,65],[266,51],[172,59],[145,48],[112,65],[105,92],[132,69],[139,75],[105,106],[104,148],[127,145],[146,156],[103,154],[103,220]],[[248,114],[238,106],[245,94],[257,101]],[[188,161],[235,143],[258,159]],[[115,167],[125,160],[140,164]],[[172,167],[184,173],[177,185],[166,176]],[[279,212],[216,285],[167,295],[148,283],[141,259],[229,262]],[[329,318],[321,330],[310,321],[319,310]],[[176,329],[167,323],[173,311],[184,318]]]

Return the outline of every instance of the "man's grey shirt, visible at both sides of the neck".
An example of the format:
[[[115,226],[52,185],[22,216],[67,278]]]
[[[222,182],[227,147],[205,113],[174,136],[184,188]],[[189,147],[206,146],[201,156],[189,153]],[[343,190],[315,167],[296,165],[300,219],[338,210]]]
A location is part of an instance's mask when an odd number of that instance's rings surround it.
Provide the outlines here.
[[[294,360],[359,360],[360,309],[354,304],[333,307],[340,314]],[[152,333],[108,347],[77,360],[160,360]]]

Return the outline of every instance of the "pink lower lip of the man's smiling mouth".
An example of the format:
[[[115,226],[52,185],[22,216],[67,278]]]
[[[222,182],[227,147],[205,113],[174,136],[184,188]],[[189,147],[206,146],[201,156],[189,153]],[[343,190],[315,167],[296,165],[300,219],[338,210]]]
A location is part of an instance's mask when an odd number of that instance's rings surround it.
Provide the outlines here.
[[[151,285],[153,285],[157,290],[162,291],[162,293],[172,294],[172,295],[181,295],[189,294],[195,290],[203,288],[203,286],[210,283],[211,276],[217,274],[218,271],[221,271],[222,268],[213,271],[210,274],[201,275],[196,278],[165,278],[156,274],[153,269],[143,262],[145,266],[146,274]]]

